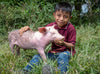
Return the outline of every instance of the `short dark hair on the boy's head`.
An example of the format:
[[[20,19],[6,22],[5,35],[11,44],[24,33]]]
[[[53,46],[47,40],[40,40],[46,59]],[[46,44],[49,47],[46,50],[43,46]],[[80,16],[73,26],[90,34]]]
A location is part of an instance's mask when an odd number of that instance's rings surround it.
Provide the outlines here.
[[[55,6],[55,12],[58,11],[58,10],[61,10],[62,12],[63,11],[69,12],[70,15],[71,15],[72,6],[69,3],[60,2],[60,3],[56,4],[56,6]]]

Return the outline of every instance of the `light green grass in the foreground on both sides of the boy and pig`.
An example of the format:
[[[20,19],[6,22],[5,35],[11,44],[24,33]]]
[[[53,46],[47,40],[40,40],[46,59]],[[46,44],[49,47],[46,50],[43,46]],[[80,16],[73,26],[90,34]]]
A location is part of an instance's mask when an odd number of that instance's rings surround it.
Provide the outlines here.
[[[76,27],[77,43],[76,55],[70,60],[69,74],[98,74],[100,73],[100,23],[98,26]],[[47,47],[47,49],[50,45]],[[47,52],[46,49],[46,52]],[[7,35],[0,35],[0,73],[17,74],[27,65],[32,56],[37,54],[36,50],[21,50],[19,57],[11,53]],[[48,63],[57,67],[56,61],[48,59]],[[41,74],[43,63],[34,70],[36,74]]]

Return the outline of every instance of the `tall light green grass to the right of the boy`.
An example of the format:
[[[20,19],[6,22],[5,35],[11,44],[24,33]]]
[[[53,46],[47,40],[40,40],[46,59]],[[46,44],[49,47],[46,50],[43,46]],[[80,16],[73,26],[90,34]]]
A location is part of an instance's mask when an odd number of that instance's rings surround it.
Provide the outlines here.
[[[77,29],[77,53],[70,61],[70,74],[100,73],[100,30],[98,28],[100,26],[96,28],[81,26]]]

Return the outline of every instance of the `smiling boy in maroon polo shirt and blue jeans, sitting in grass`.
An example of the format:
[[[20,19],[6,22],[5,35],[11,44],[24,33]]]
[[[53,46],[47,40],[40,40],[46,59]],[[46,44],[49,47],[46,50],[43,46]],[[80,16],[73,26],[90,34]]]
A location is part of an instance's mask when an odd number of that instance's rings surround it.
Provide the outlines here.
[[[76,30],[69,22],[71,19],[71,12],[72,7],[69,3],[60,2],[56,4],[55,11],[53,13],[55,22],[46,25],[55,25],[55,29],[57,29],[58,32],[65,37],[64,41],[55,39],[54,42],[52,42],[52,49],[46,54],[48,58],[57,60],[58,69],[61,71],[61,74],[64,74],[68,70],[71,53],[72,55],[75,54]],[[41,56],[39,54],[33,56],[32,60],[24,68],[24,70],[31,70],[32,67],[30,64],[32,66],[34,66],[34,64],[38,65],[40,58]]]

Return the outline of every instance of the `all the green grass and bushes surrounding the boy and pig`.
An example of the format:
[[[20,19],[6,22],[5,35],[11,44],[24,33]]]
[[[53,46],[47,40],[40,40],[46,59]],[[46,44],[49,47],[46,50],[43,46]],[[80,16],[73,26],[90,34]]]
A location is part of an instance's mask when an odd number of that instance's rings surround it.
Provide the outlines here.
[[[100,73],[100,1],[99,0],[0,0],[0,74],[19,74],[28,64],[36,50],[21,50],[19,57],[11,53],[8,32],[23,26],[32,30],[54,21],[56,3],[69,2],[73,7],[71,23],[77,31],[76,55],[70,60],[69,74]],[[87,1],[87,2],[86,2]],[[82,4],[88,12],[80,15]],[[47,46],[46,51],[50,50]],[[56,61],[48,64],[57,67]],[[34,74],[42,74],[43,63],[34,68]]]

